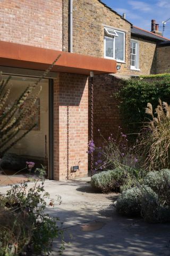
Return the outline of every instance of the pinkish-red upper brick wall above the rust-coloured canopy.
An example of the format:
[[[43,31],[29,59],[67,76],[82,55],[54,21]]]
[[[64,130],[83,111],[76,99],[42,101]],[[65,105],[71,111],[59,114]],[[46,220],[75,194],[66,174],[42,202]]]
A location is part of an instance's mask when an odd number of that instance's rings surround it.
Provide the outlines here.
[[[0,40],[62,51],[62,0],[0,1]]]

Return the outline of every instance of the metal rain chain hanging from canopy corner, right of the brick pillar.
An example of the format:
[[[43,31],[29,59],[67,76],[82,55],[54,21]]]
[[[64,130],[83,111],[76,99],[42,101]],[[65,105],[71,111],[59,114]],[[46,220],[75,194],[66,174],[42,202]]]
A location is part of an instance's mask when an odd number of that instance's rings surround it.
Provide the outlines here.
[[[91,141],[94,141],[94,77],[91,77]],[[94,153],[91,152],[91,176],[94,174]]]

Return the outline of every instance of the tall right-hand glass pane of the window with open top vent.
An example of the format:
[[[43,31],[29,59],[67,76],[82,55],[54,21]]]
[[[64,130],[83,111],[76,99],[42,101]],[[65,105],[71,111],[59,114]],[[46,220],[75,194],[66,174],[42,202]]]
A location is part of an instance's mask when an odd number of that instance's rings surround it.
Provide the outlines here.
[[[115,59],[124,61],[124,33],[116,31],[115,37]]]

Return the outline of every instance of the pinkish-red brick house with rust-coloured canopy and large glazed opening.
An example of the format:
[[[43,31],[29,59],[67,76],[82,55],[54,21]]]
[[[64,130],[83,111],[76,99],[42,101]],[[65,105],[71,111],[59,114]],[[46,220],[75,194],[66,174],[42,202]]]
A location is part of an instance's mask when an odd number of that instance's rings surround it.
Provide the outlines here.
[[[116,62],[62,51],[62,0],[1,1],[0,8],[0,70],[4,78],[12,75],[10,102],[61,54],[41,81],[36,129],[10,153],[35,162],[48,158],[50,179],[87,175],[88,76],[115,73]]]

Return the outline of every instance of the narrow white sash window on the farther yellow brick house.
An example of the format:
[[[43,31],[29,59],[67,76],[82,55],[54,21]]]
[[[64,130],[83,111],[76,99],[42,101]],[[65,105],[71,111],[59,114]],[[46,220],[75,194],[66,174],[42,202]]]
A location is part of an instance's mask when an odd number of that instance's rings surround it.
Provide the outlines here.
[[[138,41],[131,40],[131,69],[139,69],[139,43]]]

